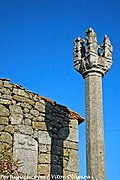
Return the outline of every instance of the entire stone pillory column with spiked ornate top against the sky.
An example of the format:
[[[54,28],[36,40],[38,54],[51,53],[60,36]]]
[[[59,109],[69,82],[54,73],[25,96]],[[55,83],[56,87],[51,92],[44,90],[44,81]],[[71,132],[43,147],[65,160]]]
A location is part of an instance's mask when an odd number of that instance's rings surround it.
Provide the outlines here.
[[[105,35],[99,46],[92,28],[86,31],[85,40],[78,37],[74,44],[74,67],[85,79],[86,87],[87,176],[105,180],[102,77],[112,65],[112,45]]]

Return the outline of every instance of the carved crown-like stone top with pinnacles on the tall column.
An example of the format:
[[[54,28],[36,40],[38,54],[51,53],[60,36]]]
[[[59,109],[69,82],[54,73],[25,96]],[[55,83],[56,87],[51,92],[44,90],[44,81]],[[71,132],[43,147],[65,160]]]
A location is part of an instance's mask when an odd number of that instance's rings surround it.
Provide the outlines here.
[[[103,44],[98,45],[96,33],[89,28],[85,40],[78,37],[74,45],[74,68],[84,78],[89,72],[98,72],[102,76],[108,72],[112,65],[113,48],[107,35]]]

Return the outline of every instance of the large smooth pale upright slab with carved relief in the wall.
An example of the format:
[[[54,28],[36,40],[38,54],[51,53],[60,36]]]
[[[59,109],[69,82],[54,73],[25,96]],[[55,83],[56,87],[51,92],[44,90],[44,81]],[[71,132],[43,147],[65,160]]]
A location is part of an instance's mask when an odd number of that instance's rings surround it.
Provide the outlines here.
[[[38,144],[28,135],[14,134],[13,157],[20,159],[22,166],[19,171],[27,175],[37,175]]]

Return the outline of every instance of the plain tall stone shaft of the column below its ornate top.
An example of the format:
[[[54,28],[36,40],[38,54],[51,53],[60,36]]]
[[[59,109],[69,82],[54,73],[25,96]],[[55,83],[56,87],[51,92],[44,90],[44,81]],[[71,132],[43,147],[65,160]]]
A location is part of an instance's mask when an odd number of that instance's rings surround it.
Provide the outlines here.
[[[105,180],[102,74],[89,72],[85,83],[87,175],[94,180]]]

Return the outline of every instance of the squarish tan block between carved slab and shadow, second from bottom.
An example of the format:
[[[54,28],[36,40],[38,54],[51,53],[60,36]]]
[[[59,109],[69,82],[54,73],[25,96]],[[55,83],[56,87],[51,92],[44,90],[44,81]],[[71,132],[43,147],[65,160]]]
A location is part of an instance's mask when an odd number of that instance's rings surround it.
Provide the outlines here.
[[[50,158],[51,158],[51,156],[49,153],[40,153],[38,156],[38,163],[49,164]]]

